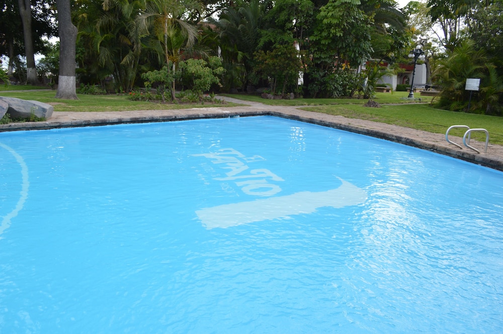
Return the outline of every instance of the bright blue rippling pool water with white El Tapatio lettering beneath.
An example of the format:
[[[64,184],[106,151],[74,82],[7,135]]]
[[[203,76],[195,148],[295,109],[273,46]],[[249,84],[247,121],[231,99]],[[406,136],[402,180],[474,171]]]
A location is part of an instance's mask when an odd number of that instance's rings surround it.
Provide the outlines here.
[[[0,133],[1,333],[500,333],[503,173],[273,117]]]

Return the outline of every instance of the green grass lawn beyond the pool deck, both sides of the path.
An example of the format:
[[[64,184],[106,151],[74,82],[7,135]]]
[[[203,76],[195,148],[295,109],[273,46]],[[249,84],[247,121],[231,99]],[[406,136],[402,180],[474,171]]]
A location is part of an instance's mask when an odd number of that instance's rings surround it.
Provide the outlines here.
[[[21,86],[15,86],[20,89]],[[51,103],[56,112],[108,112],[124,110],[160,110],[183,109],[194,107],[222,106],[222,104],[160,104],[152,102],[131,101],[125,95],[83,95],[77,94],[78,100],[61,100],[55,98],[54,90],[0,91],[0,95],[38,100]],[[414,94],[416,98],[420,94]],[[256,95],[226,95],[244,101],[256,101],[269,105],[291,105],[303,110],[340,115],[347,118],[370,120],[402,127],[424,130],[432,133],[445,134],[452,125],[467,125],[470,128],[483,128],[489,132],[489,142],[503,145],[503,117],[475,115],[449,112],[434,108],[430,103],[410,103],[406,99],[407,92],[377,93],[376,102],[380,108],[364,107],[364,99],[312,99],[298,98],[293,100],[269,100]],[[225,98],[225,97],[224,97]],[[422,102],[431,101],[431,97],[421,97]],[[417,102],[417,101],[416,101]],[[240,106],[243,104],[226,103],[225,106]],[[464,131],[454,129],[450,133],[462,137]],[[472,138],[485,141],[485,135],[473,133]]]

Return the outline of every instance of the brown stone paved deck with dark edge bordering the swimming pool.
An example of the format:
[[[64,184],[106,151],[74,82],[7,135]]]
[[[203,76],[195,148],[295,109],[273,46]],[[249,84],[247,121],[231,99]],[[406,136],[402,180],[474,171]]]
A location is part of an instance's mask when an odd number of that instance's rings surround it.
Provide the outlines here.
[[[459,149],[454,145],[447,143],[445,134],[432,134],[425,131],[384,123],[305,112],[294,106],[271,106],[262,103],[236,100],[229,97],[225,97],[224,99],[226,101],[243,103],[246,105],[234,107],[222,106],[214,108],[190,108],[179,110],[131,110],[125,112],[100,113],[54,112],[52,117],[45,122],[11,123],[0,125],[0,132],[101,126],[124,123],[167,122],[200,118],[271,115],[377,137],[503,171],[503,146],[500,145],[489,144],[487,146],[487,153],[483,153],[485,143],[471,140],[470,146],[481,152],[478,154],[466,147]],[[449,139],[463,146],[462,138],[449,136]]]

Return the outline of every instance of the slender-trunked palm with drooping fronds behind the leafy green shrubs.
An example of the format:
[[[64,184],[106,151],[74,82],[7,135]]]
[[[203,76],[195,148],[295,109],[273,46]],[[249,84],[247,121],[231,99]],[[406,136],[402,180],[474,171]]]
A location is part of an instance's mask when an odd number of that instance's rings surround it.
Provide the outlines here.
[[[201,11],[197,0],[152,0],[136,18],[142,32],[150,31],[162,45],[164,61],[173,73],[181,58],[181,50],[194,45],[199,35],[196,26],[185,19],[194,12]],[[152,43],[153,44],[153,43]],[[157,48],[160,49],[160,48]],[[171,96],[175,99],[175,79],[171,86]]]

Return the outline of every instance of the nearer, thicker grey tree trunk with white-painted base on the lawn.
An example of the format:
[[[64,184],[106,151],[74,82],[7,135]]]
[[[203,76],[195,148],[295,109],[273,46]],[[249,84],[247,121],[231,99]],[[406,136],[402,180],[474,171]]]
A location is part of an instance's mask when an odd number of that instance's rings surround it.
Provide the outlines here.
[[[70,0],[56,0],[59,33],[59,77],[56,98],[77,99],[75,90],[75,43],[77,28],[71,23]]]

